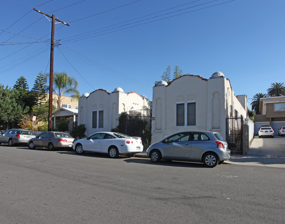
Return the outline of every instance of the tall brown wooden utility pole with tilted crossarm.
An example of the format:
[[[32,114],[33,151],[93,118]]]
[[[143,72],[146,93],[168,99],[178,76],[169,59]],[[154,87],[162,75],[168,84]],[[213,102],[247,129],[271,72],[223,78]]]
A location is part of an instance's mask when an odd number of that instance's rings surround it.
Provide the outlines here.
[[[52,128],[52,112],[53,112],[53,83],[54,83],[54,24],[55,20],[58,22],[61,22],[67,26],[69,26],[68,23],[65,23],[63,21],[60,21],[59,19],[56,19],[54,14],[50,16],[49,14],[45,14],[36,8],[34,8],[35,11],[40,12],[41,14],[52,18],[52,25],[51,25],[51,41],[50,41],[50,66],[49,66],[49,119],[48,119],[48,131],[51,131]]]

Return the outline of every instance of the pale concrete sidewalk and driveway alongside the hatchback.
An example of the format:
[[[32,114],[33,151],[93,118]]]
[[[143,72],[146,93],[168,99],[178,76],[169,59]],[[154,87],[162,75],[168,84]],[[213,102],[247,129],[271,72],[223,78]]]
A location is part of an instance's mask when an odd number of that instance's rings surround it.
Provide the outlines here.
[[[147,150],[137,153],[136,157],[147,158]],[[224,163],[285,168],[285,137],[258,138],[255,136],[247,155],[231,154],[231,158]]]

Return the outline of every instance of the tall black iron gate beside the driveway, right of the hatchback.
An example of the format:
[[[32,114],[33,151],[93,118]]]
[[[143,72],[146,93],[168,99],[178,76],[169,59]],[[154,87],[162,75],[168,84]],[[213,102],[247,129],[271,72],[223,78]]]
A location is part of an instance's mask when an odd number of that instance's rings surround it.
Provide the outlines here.
[[[242,152],[243,117],[227,117],[227,142],[231,152]]]

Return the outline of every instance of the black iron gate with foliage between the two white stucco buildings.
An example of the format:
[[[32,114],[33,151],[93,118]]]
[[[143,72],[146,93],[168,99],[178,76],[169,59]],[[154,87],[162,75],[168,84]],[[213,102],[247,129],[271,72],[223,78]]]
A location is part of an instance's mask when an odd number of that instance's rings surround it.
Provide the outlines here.
[[[142,138],[142,144],[148,146],[152,135],[151,114],[124,114],[119,118],[119,132]]]

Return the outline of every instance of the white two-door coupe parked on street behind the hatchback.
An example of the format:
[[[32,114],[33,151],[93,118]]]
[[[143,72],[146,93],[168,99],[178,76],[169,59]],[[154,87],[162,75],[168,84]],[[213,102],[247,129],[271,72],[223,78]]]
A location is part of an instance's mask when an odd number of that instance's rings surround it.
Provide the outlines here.
[[[134,156],[142,152],[143,146],[142,139],[138,137],[114,132],[97,132],[74,142],[73,149],[77,154],[100,152],[117,158],[119,155]]]

